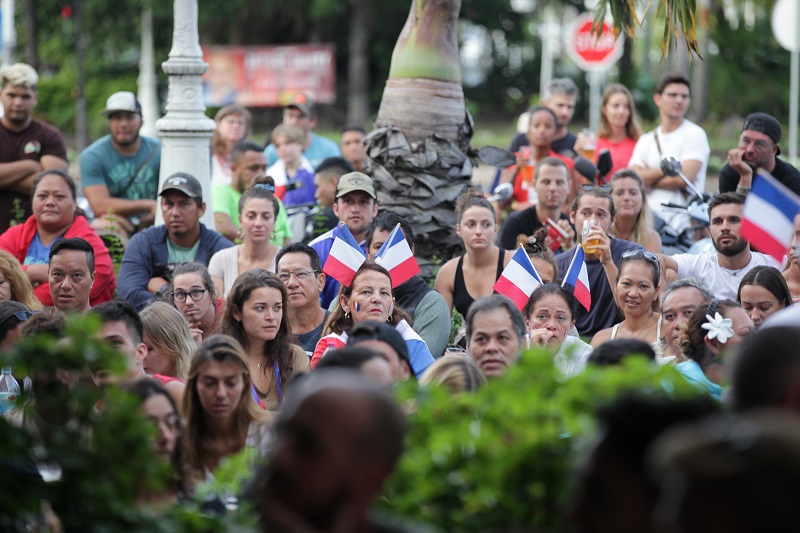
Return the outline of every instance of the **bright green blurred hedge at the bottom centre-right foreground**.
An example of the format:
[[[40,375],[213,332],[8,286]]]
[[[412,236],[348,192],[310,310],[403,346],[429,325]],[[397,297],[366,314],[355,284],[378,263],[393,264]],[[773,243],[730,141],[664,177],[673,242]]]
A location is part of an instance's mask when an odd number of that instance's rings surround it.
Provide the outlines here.
[[[474,394],[408,387],[416,411],[383,504],[444,531],[559,530],[574,450],[592,436],[595,409],[633,391],[697,394],[672,368],[640,358],[565,381],[550,355],[532,351]]]

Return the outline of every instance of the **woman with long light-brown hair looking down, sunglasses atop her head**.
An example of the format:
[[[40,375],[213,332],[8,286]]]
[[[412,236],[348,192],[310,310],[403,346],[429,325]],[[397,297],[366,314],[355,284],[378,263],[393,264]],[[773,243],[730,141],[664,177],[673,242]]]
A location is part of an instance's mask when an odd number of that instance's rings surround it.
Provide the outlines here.
[[[185,471],[194,481],[212,476],[220,462],[244,448],[263,455],[267,417],[250,399],[244,349],[227,335],[212,335],[192,358],[183,395],[181,439]]]

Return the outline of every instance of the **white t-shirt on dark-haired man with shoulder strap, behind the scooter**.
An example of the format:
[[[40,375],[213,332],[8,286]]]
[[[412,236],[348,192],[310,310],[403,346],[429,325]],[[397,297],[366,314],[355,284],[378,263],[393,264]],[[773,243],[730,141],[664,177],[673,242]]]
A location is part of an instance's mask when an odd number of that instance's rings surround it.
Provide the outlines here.
[[[658,144],[655,141],[655,134],[658,134]],[[639,137],[636,146],[633,148],[633,155],[628,163],[629,166],[641,166],[646,168],[659,168],[661,159],[671,155],[679,161],[700,161],[700,170],[697,172],[695,185],[705,191],[706,170],[708,168],[708,156],[711,148],[708,145],[708,137],[703,128],[690,120],[684,120],[680,127],[670,133],[661,131],[661,126],[653,131],[649,131]],[[658,216],[667,221],[677,230],[683,230],[691,224],[687,215],[670,213],[664,211],[662,202],[670,202],[678,205],[686,205],[686,198],[680,190],[669,191],[666,189],[653,188],[647,192],[647,203]]]

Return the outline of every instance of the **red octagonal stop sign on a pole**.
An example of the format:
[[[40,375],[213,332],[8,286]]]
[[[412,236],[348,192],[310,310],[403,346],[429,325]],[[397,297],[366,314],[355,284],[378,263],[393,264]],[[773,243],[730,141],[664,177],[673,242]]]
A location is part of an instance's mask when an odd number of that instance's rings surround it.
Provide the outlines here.
[[[578,17],[567,33],[567,51],[583,70],[605,70],[622,56],[622,36],[614,37],[614,29],[603,23],[600,35],[592,34],[594,24],[591,15]]]

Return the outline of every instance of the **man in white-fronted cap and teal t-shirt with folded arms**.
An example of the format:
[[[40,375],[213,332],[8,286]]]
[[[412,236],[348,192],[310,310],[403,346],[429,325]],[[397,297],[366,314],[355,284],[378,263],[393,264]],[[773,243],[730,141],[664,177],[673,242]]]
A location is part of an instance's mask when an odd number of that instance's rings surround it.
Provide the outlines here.
[[[81,189],[96,217],[92,227],[127,240],[155,220],[161,143],[139,135],[142,106],[132,92],[109,96],[102,113],[109,133],[81,153]]]

